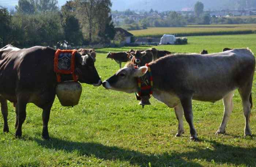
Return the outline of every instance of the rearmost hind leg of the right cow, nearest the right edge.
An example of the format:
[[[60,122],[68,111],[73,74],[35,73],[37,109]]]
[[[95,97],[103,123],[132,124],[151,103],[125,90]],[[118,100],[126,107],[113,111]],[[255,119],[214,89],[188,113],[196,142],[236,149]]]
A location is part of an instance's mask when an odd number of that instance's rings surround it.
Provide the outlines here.
[[[250,87],[249,87],[250,88]],[[251,95],[251,90],[242,90],[242,89],[238,89],[238,92],[241,96],[242,99],[242,104],[243,104],[243,110],[244,110],[244,117],[245,117],[245,128],[244,128],[244,135],[247,136],[251,136],[252,132],[251,132],[251,128],[249,125],[249,119],[251,116],[251,106],[252,106],[252,95]]]

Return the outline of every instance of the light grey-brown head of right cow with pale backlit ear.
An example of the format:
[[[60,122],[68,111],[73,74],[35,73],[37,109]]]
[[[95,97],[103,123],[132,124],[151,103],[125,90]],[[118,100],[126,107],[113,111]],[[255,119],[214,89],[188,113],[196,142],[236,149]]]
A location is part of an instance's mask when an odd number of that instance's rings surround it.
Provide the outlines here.
[[[137,69],[132,63],[127,63],[124,68],[118,70],[116,74],[105,80],[102,85],[106,89],[117,90],[126,93],[138,91],[137,78],[147,72],[147,66],[142,66]]]

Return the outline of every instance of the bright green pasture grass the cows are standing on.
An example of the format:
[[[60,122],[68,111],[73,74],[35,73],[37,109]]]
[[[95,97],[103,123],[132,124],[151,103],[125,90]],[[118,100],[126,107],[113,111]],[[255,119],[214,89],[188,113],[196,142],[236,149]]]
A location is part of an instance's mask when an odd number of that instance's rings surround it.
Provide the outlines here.
[[[187,45],[156,46],[172,52],[219,52],[224,47],[249,47],[256,53],[256,34],[189,36]],[[136,47],[144,49],[145,47]],[[109,51],[97,50],[95,66],[102,80],[119,64],[106,59]],[[124,63],[123,63],[124,65]],[[49,121],[51,140],[42,140],[42,111],[27,105],[23,137],[14,137],[15,109],[8,102],[10,133],[3,133],[0,117],[0,166],[256,166],[256,105],[252,109],[253,137],[244,138],[240,96],[234,94],[234,110],[226,135],[217,135],[222,120],[222,101],[193,101],[194,124],[200,141],[190,141],[184,119],[183,137],[174,137],[178,121],[174,109],[151,98],[150,106],[138,105],[134,94],[82,84],[79,105],[63,107],[56,97]],[[252,97],[256,104],[256,79]]]

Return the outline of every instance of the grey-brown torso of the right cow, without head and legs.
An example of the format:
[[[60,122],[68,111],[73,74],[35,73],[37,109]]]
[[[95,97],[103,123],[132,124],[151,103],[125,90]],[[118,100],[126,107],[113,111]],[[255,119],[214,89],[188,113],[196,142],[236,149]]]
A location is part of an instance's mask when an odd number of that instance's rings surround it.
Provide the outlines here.
[[[150,64],[159,89],[179,94],[193,93],[193,99],[217,101],[253,77],[255,58],[242,48],[206,55],[168,55]],[[154,74],[155,73],[155,74]]]

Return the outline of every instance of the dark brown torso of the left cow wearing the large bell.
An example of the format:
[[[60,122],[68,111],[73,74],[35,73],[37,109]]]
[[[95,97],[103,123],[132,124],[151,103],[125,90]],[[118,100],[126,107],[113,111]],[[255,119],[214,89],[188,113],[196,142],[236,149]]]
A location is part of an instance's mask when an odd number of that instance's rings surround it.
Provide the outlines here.
[[[49,47],[35,46],[2,54],[0,61],[0,94],[15,101],[17,92],[37,93],[56,85],[53,71],[54,53]],[[29,95],[28,95],[29,96]]]

